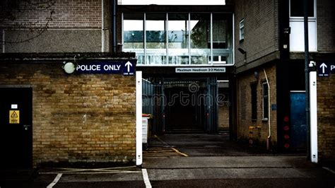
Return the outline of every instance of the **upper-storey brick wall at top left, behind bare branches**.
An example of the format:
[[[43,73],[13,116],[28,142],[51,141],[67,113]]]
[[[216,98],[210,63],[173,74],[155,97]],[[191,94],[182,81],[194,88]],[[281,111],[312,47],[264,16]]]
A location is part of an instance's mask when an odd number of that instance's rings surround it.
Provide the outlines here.
[[[20,6],[0,12],[4,52],[101,52],[102,0],[41,2],[49,1],[21,1]],[[104,12],[110,14],[107,6]],[[105,22],[105,52],[110,50],[110,22]]]

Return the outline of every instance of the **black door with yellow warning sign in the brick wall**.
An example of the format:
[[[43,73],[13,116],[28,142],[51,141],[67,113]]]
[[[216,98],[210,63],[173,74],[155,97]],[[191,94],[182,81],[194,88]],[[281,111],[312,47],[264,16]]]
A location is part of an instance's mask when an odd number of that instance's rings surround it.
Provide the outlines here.
[[[33,160],[33,90],[0,88],[1,169],[31,168]]]

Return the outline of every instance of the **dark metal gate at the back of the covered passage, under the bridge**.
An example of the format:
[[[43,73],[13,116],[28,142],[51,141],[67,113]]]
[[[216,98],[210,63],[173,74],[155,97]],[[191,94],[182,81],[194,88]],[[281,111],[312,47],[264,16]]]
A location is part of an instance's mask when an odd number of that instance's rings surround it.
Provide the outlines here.
[[[215,134],[218,131],[217,96],[216,77],[145,80],[143,113],[152,114],[153,134],[164,134],[166,131]]]

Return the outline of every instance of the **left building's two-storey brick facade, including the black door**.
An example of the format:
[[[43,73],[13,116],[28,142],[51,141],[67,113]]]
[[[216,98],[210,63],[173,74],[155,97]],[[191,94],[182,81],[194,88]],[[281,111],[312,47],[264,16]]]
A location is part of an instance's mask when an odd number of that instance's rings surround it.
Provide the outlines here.
[[[1,6],[1,167],[134,161],[135,78],[117,69],[135,54],[112,52],[109,1]]]

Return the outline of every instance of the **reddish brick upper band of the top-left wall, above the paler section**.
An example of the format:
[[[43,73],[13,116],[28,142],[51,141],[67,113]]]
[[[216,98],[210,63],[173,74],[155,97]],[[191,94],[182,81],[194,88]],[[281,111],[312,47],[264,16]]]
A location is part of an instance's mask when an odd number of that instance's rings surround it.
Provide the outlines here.
[[[55,0],[52,6],[47,8],[47,4],[20,4],[20,10],[13,8],[15,18],[13,20],[4,19],[3,26],[26,25],[34,23],[35,26],[45,25],[46,18],[52,14],[49,21],[49,28],[101,28],[102,2],[101,0]],[[4,13],[0,13],[0,18],[4,18]]]

